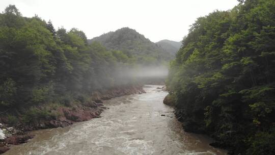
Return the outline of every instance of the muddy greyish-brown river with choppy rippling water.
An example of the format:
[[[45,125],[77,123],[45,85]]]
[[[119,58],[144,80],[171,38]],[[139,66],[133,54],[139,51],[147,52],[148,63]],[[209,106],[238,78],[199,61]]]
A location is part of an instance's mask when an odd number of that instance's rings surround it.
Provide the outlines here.
[[[168,93],[157,87],[106,100],[101,118],[35,131],[34,139],[4,154],[226,154],[209,146],[209,138],[184,132],[173,108],[162,104]]]

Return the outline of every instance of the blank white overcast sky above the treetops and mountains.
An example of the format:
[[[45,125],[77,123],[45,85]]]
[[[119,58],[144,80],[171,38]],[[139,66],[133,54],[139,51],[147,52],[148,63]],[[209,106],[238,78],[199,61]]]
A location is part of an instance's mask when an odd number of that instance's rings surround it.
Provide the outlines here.
[[[93,38],[123,27],[153,42],[181,41],[196,18],[232,9],[237,0],[0,0],[0,12],[15,5],[23,16],[37,14],[58,29],[78,28]]]

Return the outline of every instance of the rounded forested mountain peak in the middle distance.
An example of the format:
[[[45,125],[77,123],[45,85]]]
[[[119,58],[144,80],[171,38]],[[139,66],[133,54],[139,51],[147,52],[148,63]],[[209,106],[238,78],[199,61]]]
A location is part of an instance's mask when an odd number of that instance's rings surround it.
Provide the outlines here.
[[[168,62],[174,58],[174,55],[130,28],[103,34],[88,40],[88,43],[94,41],[100,42],[107,49],[121,50],[127,56],[142,63]]]

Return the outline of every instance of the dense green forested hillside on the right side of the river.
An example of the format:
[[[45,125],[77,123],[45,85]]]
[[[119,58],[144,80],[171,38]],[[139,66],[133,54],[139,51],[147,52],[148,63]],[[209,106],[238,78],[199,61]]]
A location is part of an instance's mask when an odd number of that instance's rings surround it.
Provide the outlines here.
[[[167,85],[189,132],[230,154],[275,154],[275,1],[246,0],[191,25]]]

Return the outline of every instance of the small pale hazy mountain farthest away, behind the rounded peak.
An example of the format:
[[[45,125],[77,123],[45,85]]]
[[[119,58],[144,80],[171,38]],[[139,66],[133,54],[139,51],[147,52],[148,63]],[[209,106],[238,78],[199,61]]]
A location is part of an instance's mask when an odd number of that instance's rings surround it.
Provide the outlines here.
[[[160,46],[161,48],[163,48],[164,50],[166,50],[168,53],[172,55],[175,55],[181,46],[181,42],[171,41],[171,40],[160,40],[155,44]]]

